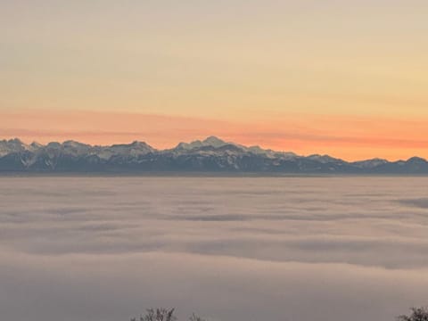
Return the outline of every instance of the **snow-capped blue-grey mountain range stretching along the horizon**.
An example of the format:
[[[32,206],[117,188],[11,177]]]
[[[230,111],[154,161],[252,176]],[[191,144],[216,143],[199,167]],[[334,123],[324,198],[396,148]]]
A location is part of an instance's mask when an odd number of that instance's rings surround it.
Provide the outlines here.
[[[228,143],[210,136],[157,150],[144,142],[93,146],[75,141],[24,144],[0,141],[0,172],[253,172],[277,174],[428,174],[428,162],[342,161],[328,155],[300,156],[259,146]]]

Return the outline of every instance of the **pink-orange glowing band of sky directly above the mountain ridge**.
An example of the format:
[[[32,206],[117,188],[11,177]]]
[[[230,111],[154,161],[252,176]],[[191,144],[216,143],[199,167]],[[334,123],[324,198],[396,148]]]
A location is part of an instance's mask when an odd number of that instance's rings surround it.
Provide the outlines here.
[[[0,136],[40,143],[74,139],[89,144],[142,140],[157,148],[219,136],[226,141],[299,154],[327,153],[345,160],[428,158],[424,119],[287,113],[246,122],[124,112],[2,112]]]

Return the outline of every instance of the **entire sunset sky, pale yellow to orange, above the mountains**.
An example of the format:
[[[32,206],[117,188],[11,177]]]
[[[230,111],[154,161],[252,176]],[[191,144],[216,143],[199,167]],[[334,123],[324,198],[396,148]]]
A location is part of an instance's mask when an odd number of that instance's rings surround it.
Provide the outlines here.
[[[428,158],[428,3],[0,0],[0,137]]]

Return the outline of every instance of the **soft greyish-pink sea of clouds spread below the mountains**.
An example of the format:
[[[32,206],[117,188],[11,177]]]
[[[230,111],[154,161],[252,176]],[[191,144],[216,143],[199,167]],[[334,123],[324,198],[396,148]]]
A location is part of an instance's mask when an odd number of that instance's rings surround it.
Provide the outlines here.
[[[428,178],[0,177],[8,321],[393,320],[428,304]]]

